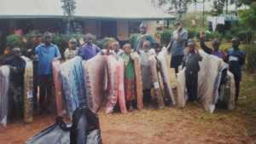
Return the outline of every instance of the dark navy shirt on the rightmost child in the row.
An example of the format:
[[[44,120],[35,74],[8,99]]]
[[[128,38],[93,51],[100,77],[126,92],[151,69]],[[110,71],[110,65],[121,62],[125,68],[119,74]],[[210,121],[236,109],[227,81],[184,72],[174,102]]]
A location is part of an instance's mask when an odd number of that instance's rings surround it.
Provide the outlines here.
[[[242,59],[243,51],[241,49],[229,49],[226,60],[229,61],[230,72],[235,76],[241,76],[241,66],[244,64]],[[237,79],[241,81],[241,79]]]

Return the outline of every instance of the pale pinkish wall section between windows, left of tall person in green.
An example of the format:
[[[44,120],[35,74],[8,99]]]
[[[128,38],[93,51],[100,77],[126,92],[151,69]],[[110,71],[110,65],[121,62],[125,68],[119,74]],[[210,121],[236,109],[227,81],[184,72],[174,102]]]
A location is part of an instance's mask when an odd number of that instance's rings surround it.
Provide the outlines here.
[[[117,21],[117,37],[120,41],[128,40],[128,21]]]

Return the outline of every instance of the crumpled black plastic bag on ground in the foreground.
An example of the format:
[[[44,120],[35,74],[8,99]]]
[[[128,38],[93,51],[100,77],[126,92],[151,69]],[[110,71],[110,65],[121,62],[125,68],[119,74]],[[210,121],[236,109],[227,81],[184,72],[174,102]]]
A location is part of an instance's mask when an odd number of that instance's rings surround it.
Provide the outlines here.
[[[68,126],[67,126],[68,125]],[[26,143],[37,144],[102,144],[98,116],[87,107],[79,107],[73,112],[73,124],[65,124],[62,118],[34,135]]]

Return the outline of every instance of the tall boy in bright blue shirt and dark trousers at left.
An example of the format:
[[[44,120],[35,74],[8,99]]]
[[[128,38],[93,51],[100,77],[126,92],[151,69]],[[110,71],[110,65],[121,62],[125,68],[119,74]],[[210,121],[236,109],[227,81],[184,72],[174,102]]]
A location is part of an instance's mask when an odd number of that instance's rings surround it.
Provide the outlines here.
[[[61,60],[58,46],[51,42],[52,34],[50,32],[44,32],[44,43],[39,45],[35,50],[35,54],[38,55],[39,106],[41,107],[41,112],[49,112],[52,86],[54,84],[52,61]],[[46,105],[44,105],[45,90],[47,91]]]

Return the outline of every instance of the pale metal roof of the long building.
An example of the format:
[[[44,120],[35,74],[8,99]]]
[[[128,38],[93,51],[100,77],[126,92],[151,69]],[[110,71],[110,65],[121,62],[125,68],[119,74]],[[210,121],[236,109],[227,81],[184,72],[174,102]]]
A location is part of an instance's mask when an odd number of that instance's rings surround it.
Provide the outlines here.
[[[147,0],[75,0],[75,18],[98,20],[175,20]],[[61,18],[61,0],[0,0],[0,18]]]

